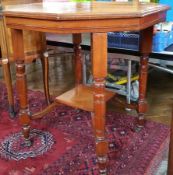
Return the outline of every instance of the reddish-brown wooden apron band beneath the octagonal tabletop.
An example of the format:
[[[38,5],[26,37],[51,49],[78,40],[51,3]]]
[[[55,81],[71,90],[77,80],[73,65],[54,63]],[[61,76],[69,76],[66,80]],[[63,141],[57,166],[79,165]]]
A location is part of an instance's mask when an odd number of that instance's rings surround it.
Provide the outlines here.
[[[32,18],[6,17],[9,28],[40,32],[71,34],[111,31],[137,31],[164,21],[165,12],[151,14],[143,18],[93,19],[74,21],[40,20]]]

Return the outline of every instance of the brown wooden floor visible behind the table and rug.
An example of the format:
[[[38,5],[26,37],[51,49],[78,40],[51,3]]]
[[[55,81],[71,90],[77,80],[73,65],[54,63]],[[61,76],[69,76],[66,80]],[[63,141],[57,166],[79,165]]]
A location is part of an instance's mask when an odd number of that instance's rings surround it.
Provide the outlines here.
[[[63,49],[53,48],[50,52],[50,92],[57,96],[74,86],[74,64],[71,54],[59,55],[57,52]],[[70,50],[71,51],[71,50]],[[27,65],[27,80],[29,89],[43,90],[41,63],[36,62]],[[11,65],[13,83],[15,83],[15,66]],[[0,79],[3,80],[2,69],[0,69]],[[173,75],[159,70],[152,70],[149,74],[147,100],[149,109],[146,118],[169,124],[172,114],[173,104]],[[108,110],[122,111],[118,102],[109,103]],[[136,115],[134,111],[130,112]]]

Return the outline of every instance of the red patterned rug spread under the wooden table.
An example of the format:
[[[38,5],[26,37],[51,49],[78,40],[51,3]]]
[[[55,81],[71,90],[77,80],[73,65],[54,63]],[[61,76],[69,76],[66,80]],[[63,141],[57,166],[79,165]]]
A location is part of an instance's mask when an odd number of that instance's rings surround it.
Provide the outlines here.
[[[44,108],[43,93],[29,91],[29,105],[32,112]],[[90,113],[57,107],[32,122],[33,146],[24,148],[21,127],[17,119],[9,119],[7,108],[6,89],[0,84],[0,175],[98,175]],[[107,113],[111,175],[155,175],[166,154],[169,128],[147,121],[136,133],[134,120]]]

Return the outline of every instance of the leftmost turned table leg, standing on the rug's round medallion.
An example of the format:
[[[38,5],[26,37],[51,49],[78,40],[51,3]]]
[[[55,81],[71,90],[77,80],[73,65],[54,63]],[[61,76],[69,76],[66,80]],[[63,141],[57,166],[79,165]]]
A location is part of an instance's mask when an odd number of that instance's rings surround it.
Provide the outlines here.
[[[23,146],[31,146],[30,133],[30,112],[27,100],[27,82],[24,64],[24,45],[22,30],[12,29],[12,45],[14,59],[16,60],[16,85],[20,101],[20,122],[23,125],[23,136],[25,139]]]

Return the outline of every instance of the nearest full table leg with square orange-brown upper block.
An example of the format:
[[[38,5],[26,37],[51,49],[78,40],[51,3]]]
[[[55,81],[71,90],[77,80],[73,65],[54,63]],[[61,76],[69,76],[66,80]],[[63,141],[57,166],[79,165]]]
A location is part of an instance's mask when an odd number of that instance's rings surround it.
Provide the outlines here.
[[[100,174],[107,174],[108,142],[105,135],[106,102],[104,95],[107,75],[107,34],[92,34],[92,67],[94,78],[94,112],[92,115],[95,133],[96,154]]]

